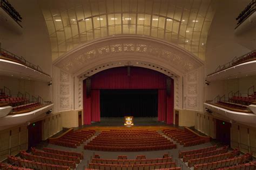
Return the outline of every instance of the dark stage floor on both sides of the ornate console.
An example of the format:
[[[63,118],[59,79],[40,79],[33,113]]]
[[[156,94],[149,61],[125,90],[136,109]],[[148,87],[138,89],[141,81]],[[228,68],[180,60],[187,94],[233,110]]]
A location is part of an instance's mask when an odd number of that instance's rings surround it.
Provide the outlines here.
[[[166,126],[157,117],[134,117],[134,126]],[[124,117],[101,117],[100,122],[93,122],[90,126],[124,126]]]

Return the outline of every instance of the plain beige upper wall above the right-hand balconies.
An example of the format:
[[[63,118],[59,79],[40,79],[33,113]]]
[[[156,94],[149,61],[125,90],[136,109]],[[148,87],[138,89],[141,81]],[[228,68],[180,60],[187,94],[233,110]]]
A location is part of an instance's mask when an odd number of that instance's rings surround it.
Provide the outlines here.
[[[256,49],[256,30],[251,29],[239,36],[234,34],[235,18],[251,0],[219,1],[207,38],[205,74],[210,74],[219,66]]]

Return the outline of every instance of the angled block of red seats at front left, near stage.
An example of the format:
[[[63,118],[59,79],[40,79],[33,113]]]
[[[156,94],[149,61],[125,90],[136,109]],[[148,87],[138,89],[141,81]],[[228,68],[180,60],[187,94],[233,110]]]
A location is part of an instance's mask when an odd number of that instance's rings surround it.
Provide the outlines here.
[[[70,131],[59,138],[49,140],[49,143],[64,147],[77,148],[77,146],[83,144],[84,141],[91,138],[94,134],[95,130]]]

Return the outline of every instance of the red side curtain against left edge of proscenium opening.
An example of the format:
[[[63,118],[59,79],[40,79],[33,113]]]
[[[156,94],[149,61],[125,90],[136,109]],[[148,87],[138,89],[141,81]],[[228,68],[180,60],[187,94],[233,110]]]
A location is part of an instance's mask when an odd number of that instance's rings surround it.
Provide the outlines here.
[[[91,96],[86,96],[86,83],[83,83],[83,108],[84,108],[84,124],[91,124]]]

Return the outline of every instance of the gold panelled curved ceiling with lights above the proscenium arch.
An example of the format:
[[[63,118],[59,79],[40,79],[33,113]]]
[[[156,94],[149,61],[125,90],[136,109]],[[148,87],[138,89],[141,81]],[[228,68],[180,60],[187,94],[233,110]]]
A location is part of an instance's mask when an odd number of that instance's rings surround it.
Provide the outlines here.
[[[214,0],[39,0],[52,60],[102,37],[145,35],[205,58]]]

